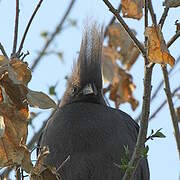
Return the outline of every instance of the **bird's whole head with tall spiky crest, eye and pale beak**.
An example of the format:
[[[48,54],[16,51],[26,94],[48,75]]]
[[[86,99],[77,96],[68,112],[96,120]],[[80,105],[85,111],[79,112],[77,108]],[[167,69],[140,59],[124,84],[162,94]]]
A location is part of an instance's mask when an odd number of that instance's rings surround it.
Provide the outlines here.
[[[61,100],[60,107],[74,102],[92,102],[105,105],[102,95],[103,33],[97,25],[86,28],[79,57]]]

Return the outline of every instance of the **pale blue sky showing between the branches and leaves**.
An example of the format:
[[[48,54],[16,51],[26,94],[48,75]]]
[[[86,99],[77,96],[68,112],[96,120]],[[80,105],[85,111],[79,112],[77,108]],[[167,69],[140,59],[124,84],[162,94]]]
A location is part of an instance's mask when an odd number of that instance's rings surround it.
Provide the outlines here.
[[[37,13],[30,31],[28,33],[26,42],[24,44],[24,51],[30,51],[30,55],[26,58],[26,61],[31,65],[34,58],[37,56],[38,50],[44,44],[44,39],[40,37],[42,31],[52,32],[55,26],[58,24],[62,17],[66,7],[70,0],[44,0],[42,6]],[[111,1],[116,7],[119,3],[117,0]],[[152,1],[154,9],[157,14],[157,18],[161,17],[163,12],[162,0]],[[35,5],[38,3],[34,1],[20,1],[20,29],[19,36],[22,36],[24,28],[27,24],[29,17]],[[15,15],[15,1],[2,0],[0,2],[0,42],[4,45],[7,53],[10,54],[13,41],[13,27],[14,27],[14,15]],[[55,41],[50,46],[49,50],[58,50],[64,52],[64,62],[60,61],[55,55],[48,55],[42,58],[40,64],[33,72],[33,78],[29,87],[33,90],[48,92],[48,88],[51,85],[59,82],[57,86],[58,97],[60,98],[65,89],[64,77],[71,72],[73,61],[77,58],[77,52],[79,51],[83,26],[86,24],[88,18],[96,20],[100,24],[106,25],[112,17],[108,8],[104,5],[103,1],[96,0],[77,0],[75,6],[69,16],[70,19],[76,19],[78,26],[74,28],[67,28],[59,34]],[[165,34],[165,40],[168,41],[175,33],[175,20],[180,18],[180,8],[171,9],[169,16],[165,22],[163,33]],[[180,20],[180,19],[179,19]],[[131,28],[137,31],[137,38],[143,42],[144,40],[144,22],[125,19]],[[151,22],[150,22],[151,24]],[[67,25],[67,23],[65,23]],[[176,59],[180,55],[178,51],[180,47],[180,39],[178,39],[174,45],[170,47],[171,55]],[[143,58],[139,57],[136,64],[131,69],[130,73],[133,75],[133,80],[136,84],[136,90],[134,92],[135,97],[142,103],[143,93]],[[179,69],[176,68],[170,78],[171,87],[174,89],[177,87],[179,81]],[[157,86],[158,82],[162,79],[162,72],[159,65],[156,65],[153,71],[152,85],[153,89]],[[151,105],[151,112],[157,108],[157,106],[166,98],[164,91],[162,90],[155,102]],[[178,107],[180,103],[175,101],[175,107]],[[129,104],[124,104],[120,107],[132,117],[137,117],[141,108],[133,112]],[[36,111],[35,109],[31,109]],[[41,126],[43,120],[46,119],[50,110],[43,110],[43,113],[35,119],[35,131]],[[176,143],[173,135],[173,127],[170,119],[168,107],[163,109],[149,124],[149,131],[151,129],[157,130],[163,128],[162,132],[166,135],[165,139],[155,139],[149,141],[149,166],[151,171],[151,179],[163,179],[163,180],[177,180],[180,175],[180,161],[178,159],[178,153],[176,150]],[[29,128],[29,138],[32,136],[32,128]],[[35,156],[33,156],[35,158]]]

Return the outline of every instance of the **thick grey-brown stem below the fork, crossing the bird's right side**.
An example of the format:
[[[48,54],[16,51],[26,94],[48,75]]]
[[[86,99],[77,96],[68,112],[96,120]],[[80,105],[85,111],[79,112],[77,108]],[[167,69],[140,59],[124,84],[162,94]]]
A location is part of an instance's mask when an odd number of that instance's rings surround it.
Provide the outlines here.
[[[146,141],[147,129],[148,129],[148,119],[149,119],[149,109],[150,109],[150,97],[151,97],[151,77],[152,77],[153,66],[145,67],[144,75],[144,95],[143,95],[143,105],[142,105],[142,118],[140,121],[140,130],[137,138],[137,143],[128,163],[128,168],[124,174],[123,180],[130,180],[141,159],[142,150],[144,148],[144,143]],[[132,170],[133,169],[133,170]]]

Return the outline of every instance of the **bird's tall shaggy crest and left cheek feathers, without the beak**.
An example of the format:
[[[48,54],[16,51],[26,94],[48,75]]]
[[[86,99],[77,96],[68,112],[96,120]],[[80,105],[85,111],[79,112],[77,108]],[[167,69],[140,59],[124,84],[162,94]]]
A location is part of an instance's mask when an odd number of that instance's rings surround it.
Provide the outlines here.
[[[89,88],[89,84],[96,88],[97,92],[101,92],[102,32],[102,28],[100,29],[96,24],[86,26],[79,57],[77,63],[73,66],[72,75],[68,79],[67,88],[60,106],[70,103],[73,100],[73,95],[83,91],[85,87]],[[91,92],[90,89],[89,92]]]

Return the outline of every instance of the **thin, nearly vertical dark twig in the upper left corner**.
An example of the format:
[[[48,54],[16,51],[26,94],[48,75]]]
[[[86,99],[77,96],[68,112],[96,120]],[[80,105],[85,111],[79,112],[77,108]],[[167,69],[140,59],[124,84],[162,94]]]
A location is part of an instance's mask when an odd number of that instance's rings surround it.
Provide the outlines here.
[[[12,49],[11,57],[13,57],[16,54],[17,39],[18,39],[18,25],[19,25],[19,0],[16,0],[16,17],[15,17],[15,25],[14,25],[14,41],[13,41],[13,49]]]

